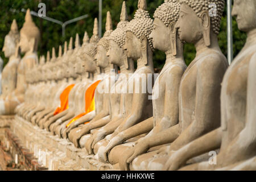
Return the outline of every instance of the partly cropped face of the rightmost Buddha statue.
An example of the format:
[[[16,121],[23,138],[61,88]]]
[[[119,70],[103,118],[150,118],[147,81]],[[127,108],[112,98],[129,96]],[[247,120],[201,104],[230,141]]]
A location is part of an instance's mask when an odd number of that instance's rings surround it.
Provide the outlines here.
[[[234,0],[232,16],[236,16],[238,28],[249,32],[256,28],[256,1]]]

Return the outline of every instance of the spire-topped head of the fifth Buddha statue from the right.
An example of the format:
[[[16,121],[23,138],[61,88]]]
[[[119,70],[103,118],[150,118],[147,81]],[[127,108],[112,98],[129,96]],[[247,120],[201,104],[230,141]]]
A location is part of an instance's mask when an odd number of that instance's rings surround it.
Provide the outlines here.
[[[107,56],[109,57],[110,64],[120,65],[121,61],[123,61],[126,69],[129,68],[129,63],[123,46],[125,45],[126,26],[128,23],[126,3],[123,1],[120,22],[109,36],[109,51],[107,52]]]

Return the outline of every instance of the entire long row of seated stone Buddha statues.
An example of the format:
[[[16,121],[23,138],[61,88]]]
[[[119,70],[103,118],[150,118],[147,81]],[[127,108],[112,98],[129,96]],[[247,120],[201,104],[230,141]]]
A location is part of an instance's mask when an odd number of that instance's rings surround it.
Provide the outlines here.
[[[209,15],[210,3],[216,16]],[[256,169],[256,1],[234,0],[232,15],[247,40],[231,65],[218,45],[224,8],[224,0],[166,0],[151,19],[146,0],[139,0],[129,22],[123,2],[115,30],[108,12],[102,38],[95,19],[90,39],[85,32],[80,45],[77,34],[75,48],[71,38],[46,59],[37,58],[39,30],[28,10],[20,34],[14,20],[5,38],[0,113],[16,114],[122,170]],[[188,67],[186,43],[196,48]],[[151,79],[155,49],[166,53],[152,88],[158,98],[135,88],[110,92],[133,85],[128,75]]]

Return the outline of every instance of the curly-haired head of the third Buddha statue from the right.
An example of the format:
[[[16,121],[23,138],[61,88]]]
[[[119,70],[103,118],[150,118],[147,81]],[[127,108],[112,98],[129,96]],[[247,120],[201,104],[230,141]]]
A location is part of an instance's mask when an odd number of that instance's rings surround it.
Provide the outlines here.
[[[183,44],[177,38],[175,24],[179,19],[179,0],[168,0],[160,5],[154,13],[154,30],[151,32],[153,46],[163,52],[176,56],[177,47],[183,49]],[[171,52],[169,52],[171,50]]]

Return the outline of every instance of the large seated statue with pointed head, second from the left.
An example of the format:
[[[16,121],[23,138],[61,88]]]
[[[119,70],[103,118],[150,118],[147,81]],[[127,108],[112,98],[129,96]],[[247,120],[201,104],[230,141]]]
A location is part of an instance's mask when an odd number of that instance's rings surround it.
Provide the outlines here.
[[[20,49],[25,55],[18,65],[16,89],[5,100],[1,100],[1,114],[14,114],[15,107],[25,100],[24,93],[28,88],[25,75],[28,70],[32,69],[36,63],[38,63],[36,51],[38,48],[39,38],[39,29],[32,21],[30,10],[28,9],[25,17],[25,23],[20,30],[19,42]]]

